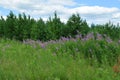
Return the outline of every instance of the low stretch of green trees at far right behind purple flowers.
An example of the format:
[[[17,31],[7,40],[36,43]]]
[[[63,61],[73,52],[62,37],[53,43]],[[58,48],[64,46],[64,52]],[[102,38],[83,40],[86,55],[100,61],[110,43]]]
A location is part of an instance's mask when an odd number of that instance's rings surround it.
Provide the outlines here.
[[[104,37],[109,36],[113,40],[120,39],[120,26],[108,22],[104,25],[91,25],[91,31],[102,34]]]

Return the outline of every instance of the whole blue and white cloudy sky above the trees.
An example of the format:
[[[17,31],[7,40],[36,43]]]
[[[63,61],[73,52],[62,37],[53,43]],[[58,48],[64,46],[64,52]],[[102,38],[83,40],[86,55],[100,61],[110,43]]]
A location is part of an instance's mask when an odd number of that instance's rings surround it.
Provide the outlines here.
[[[57,11],[63,22],[78,13],[88,24],[120,23],[120,0],[0,0],[0,15],[6,18],[10,11],[45,21]]]

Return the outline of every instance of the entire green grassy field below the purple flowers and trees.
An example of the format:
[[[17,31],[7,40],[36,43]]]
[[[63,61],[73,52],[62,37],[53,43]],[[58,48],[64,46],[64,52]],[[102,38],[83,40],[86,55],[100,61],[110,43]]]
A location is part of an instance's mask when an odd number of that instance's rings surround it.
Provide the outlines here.
[[[0,80],[119,80],[120,46],[105,40],[0,40]]]

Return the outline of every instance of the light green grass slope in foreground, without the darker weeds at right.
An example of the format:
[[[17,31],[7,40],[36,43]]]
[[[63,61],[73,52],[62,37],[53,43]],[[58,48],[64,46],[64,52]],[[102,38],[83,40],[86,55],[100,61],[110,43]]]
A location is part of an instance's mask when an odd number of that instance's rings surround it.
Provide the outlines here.
[[[76,44],[66,42],[67,45]],[[52,44],[46,48],[22,44],[16,41],[0,40],[0,80],[118,80],[112,67],[90,66],[89,61],[79,55],[76,59],[68,53],[56,55]],[[64,46],[62,46],[64,48]],[[64,48],[65,49],[65,48]],[[78,52],[79,53],[79,52]],[[95,63],[94,65],[97,65]]]

